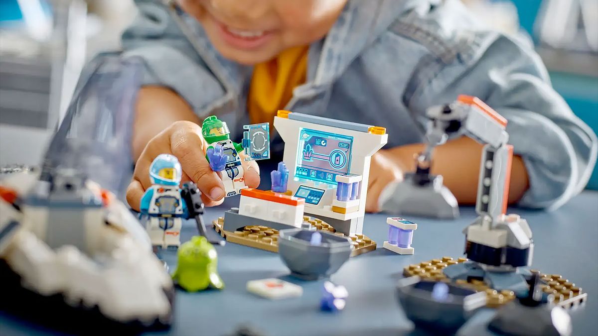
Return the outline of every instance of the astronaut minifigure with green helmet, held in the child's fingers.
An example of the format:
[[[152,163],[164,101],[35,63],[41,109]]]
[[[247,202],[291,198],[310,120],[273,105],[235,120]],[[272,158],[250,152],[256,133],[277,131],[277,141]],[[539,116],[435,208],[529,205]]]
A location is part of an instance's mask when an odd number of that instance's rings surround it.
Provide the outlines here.
[[[209,143],[206,158],[215,172],[222,172],[225,197],[234,196],[247,188],[243,176],[243,166],[239,153],[243,151],[241,143],[230,139],[227,124],[210,115],[202,124],[203,138]]]

